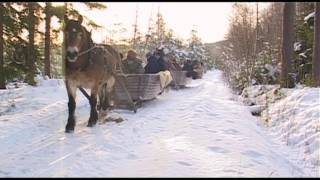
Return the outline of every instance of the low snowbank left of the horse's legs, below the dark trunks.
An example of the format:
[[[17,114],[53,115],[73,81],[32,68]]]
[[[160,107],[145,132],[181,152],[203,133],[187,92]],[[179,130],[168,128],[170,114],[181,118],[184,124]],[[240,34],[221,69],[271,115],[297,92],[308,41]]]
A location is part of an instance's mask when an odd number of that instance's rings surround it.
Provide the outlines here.
[[[21,122],[28,119],[46,117],[65,111],[68,103],[63,79],[35,78],[37,86],[25,83],[11,83],[0,91],[0,122]],[[77,106],[88,104],[87,99],[78,93]],[[2,126],[7,124],[2,124]],[[11,124],[8,123],[11,126]],[[16,126],[16,127],[14,127]],[[17,129],[19,125],[13,125]]]

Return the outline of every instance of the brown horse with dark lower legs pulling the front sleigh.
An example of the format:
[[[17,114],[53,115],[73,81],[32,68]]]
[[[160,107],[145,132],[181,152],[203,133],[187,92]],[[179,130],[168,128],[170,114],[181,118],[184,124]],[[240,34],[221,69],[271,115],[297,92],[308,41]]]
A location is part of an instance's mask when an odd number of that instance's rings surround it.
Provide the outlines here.
[[[97,103],[99,99],[97,95],[101,94],[101,91],[106,91],[110,94],[113,90],[116,67],[121,59],[120,53],[112,47],[108,46],[106,48],[93,43],[91,33],[81,25],[81,16],[78,20],[69,20],[65,16],[65,22],[65,83],[69,98],[69,117],[65,131],[73,132],[76,124],[74,113],[77,88],[91,90],[91,94],[88,97],[91,111],[87,126],[92,127],[98,120]],[[107,97],[110,96],[107,95]],[[99,103],[101,104],[101,100]],[[104,103],[104,109],[107,108],[107,105],[108,103]]]

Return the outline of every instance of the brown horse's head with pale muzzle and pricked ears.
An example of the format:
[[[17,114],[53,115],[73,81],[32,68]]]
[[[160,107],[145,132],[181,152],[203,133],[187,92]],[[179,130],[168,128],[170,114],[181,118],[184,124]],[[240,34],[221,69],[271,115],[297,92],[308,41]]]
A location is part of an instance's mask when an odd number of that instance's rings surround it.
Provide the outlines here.
[[[79,16],[78,20],[69,20],[67,16],[64,18],[66,22],[64,29],[67,50],[66,56],[68,62],[73,63],[78,59],[80,50],[92,42],[91,33],[82,26],[82,16]]]

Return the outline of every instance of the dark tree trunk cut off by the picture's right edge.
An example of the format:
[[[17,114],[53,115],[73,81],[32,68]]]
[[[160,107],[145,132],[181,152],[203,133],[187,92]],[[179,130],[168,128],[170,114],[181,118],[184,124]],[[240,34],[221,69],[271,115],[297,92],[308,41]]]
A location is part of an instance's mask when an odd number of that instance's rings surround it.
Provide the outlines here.
[[[314,45],[312,77],[315,86],[320,86],[320,3],[315,2]]]

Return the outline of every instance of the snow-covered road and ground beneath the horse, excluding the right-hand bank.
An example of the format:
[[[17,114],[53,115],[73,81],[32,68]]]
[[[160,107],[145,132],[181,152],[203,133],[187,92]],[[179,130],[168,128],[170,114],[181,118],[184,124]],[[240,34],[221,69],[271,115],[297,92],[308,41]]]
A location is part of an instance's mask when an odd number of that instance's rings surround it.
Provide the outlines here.
[[[0,91],[1,177],[319,177],[233,100],[221,71],[94,128],[78,92],[73,134],[63,81],[41,84]]]

